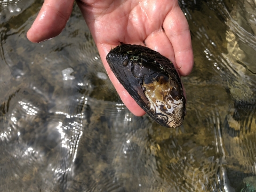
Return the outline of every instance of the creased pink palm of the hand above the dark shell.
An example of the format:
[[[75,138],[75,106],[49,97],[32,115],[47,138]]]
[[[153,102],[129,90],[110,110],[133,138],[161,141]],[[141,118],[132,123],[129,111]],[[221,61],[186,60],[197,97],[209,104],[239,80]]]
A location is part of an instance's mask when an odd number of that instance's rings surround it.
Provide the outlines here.
[[[100,42],[142,43],[154,31],[162,30],[164,18],[172,6],[162,10],[163,7],[156,3],[146,4],[146,2],[138,1],[131,4],[129,1],[124,1],[122,4],[120,2],[114,4],[112,1],[113,5],[109,5],[105,1],[107,8],[98,5],[99,9],[84,4],[80,6],[84,9],[84,17],[89,27],[106,35],[97,37]]]

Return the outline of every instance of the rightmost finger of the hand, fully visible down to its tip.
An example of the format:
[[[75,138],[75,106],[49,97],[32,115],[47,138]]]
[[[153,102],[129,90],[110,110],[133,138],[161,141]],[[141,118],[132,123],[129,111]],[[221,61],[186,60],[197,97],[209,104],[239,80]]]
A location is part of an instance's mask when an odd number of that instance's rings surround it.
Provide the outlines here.
[[[188,75],[193,68],[193,50],[188,22],[179,5],[166,15],[163,28],[173,46],[180,75]]]

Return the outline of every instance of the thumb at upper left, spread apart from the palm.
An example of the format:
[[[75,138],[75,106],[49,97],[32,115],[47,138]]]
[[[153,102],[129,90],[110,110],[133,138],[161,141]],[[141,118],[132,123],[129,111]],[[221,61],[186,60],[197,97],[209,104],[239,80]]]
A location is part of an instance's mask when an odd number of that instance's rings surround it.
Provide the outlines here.
[[[28,30],[31,42],[42,42],[55,37],[65,28],[74,0],[45,0],[36,20]]]

